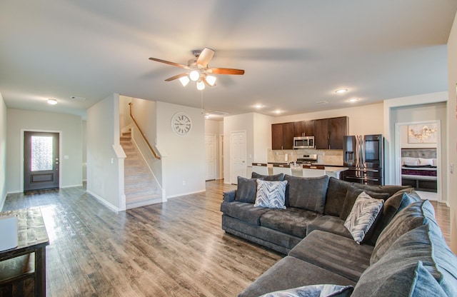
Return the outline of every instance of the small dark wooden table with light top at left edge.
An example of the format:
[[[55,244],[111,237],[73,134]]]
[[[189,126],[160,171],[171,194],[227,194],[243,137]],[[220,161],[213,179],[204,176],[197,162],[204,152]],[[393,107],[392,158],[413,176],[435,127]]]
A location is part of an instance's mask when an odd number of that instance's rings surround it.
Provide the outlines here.
[[[46,296],[48,233],[38,207],[5,211],[17,216],[18,246],[0,251],[1,296]]]

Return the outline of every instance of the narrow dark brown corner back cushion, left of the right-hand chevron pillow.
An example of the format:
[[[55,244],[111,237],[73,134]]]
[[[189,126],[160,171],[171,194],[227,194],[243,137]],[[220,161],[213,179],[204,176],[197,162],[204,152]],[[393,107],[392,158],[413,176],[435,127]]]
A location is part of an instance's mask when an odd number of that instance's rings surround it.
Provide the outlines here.
[[[326,195],[326,207],[323,214],[330,216],[340,216],[343,209],[344,198],[351,183],[341,179],[331,177],[328,179],[328,189]]]

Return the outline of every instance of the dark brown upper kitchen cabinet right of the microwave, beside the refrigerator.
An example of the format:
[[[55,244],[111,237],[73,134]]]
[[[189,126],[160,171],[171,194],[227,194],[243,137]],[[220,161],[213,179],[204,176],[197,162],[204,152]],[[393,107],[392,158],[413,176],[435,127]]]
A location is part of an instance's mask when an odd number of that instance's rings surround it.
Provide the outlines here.
[[[348,135],[348,117],[314,121],[314,143],[317,149],[343,149],[343,136]]]

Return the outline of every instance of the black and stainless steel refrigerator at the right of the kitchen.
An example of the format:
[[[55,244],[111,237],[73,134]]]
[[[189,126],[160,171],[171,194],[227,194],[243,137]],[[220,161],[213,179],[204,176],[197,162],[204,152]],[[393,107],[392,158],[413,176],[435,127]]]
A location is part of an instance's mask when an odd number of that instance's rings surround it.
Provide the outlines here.
[[[343,163],[349,168],[341,174],[344,181],[383,185],[383,136],[381,134],[343,136]]]

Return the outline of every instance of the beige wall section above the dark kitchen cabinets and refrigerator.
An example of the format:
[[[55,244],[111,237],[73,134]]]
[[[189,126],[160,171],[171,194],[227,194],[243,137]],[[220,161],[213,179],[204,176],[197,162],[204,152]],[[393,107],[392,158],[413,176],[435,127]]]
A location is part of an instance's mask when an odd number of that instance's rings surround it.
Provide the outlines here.
[[[295,114],[293,116],[277,116],[273,123],[287,123],[291,121],[306,121],[317,119],[349,117],[349,134],[382,134],[383,133],[383,104],[369,104],[350,106],[346,109],[332,109],[328,111]]]

